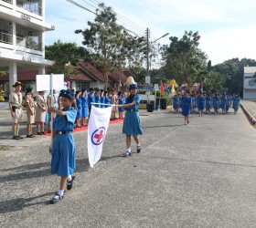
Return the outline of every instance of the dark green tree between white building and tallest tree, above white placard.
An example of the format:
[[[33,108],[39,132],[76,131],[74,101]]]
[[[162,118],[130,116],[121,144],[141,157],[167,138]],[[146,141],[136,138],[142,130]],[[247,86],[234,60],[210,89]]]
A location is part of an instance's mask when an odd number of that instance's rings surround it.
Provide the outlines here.
[[[87,55],[84,47],[58,40],[52,46],[46,46],[46,58],[55,61],[53,66],[48,67],[48,73],[64,74],[65,80],[69,80],[70,75],[76,74],[79,59]]]

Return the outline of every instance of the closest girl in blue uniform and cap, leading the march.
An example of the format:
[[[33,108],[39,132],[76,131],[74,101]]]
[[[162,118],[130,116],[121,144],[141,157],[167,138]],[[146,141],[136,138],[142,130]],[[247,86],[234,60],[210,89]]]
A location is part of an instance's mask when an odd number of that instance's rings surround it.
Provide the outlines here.
[[[72,104],[75,96],[70,90],[66,90],[59,95],[63,109],[54,107],[50,111],[56,113],[53,121],[53,143],[49,147],[51,153],[51,173],[60,176],[59,192],[50,200],[50,203],[59,202],[64,197],[64,188],[70,190],[75,176],[72,176],[76,169],[75,161],[75,141],[72,131],[77,111]]]

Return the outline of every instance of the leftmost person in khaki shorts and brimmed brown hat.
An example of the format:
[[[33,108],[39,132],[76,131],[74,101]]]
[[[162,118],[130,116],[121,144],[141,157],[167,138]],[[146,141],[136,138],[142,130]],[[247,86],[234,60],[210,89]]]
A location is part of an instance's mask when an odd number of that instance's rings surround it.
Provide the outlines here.
[[[23,117],[22,94],[20,92],[21,82],[16,81],[13,88],[15,88],[15,91],[9,96],[9,109],[13,118],[13,139],[21,140],[23,139],[23,137],[19,135],[19,123],[22,121]]]

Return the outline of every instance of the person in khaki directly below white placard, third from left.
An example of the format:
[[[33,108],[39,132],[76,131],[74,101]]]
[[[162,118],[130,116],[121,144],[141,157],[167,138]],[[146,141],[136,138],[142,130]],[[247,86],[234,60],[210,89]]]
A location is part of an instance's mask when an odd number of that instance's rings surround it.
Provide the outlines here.
[[[45,134],[44,122],[47,113],[47,99],[45,98],[46,91],[39,91],[37,95],[37,109],[36,109],[36,122],[37,122],[37,135]]]

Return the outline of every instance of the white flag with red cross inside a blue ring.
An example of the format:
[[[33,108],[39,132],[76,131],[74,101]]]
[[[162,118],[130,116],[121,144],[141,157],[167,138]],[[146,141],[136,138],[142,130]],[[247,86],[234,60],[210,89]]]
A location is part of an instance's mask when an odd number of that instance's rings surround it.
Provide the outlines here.
[[[88,128],[88,157],[91,168],[101,159],[103,141],[112,115],[112,107],[96,108],[91,106]]]

